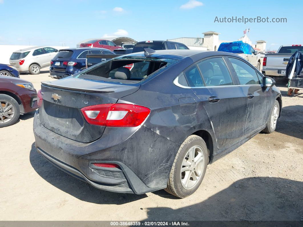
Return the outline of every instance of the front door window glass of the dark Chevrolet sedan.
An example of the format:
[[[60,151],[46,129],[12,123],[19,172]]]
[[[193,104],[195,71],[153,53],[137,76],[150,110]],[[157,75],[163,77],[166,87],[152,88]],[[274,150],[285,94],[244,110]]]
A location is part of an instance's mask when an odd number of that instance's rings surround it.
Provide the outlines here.
[[[258,78],[254,68],[236,58],[229,58],[229,60],[235,69],[241,85],[261,84],[261,78]]]

